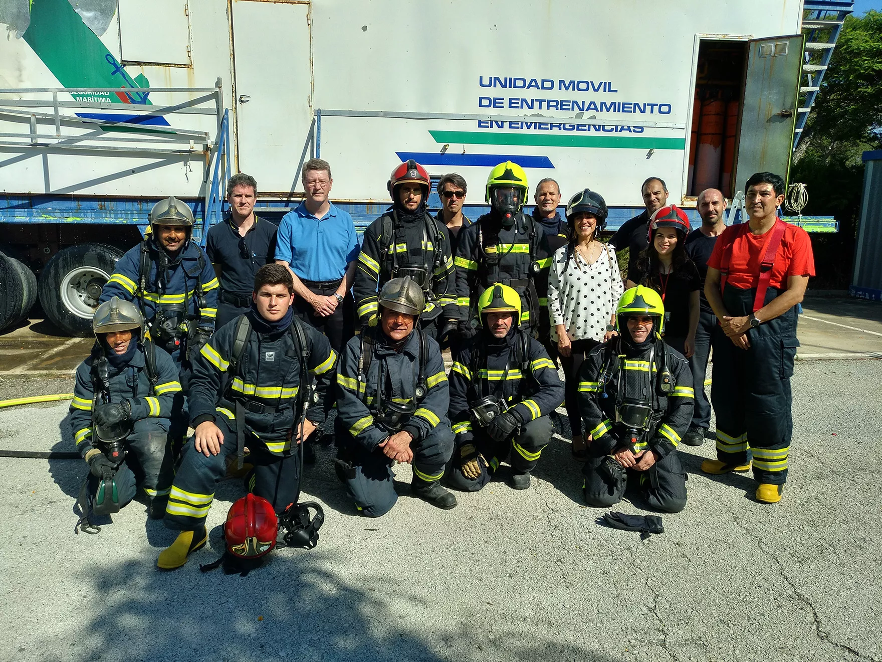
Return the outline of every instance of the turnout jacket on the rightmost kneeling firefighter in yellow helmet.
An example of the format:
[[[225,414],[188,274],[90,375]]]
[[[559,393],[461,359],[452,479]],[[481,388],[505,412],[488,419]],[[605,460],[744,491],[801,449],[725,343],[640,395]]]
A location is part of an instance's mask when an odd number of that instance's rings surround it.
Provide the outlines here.
[[[615,423],[617,395],[645,399],[653,404],[652,423],[635,445],[637,451],[648,448],[664,457],[680,443],[692,420],[695,401],[692,372],[683,355],[668,348],[667,367],[673,377],[674,388],[670,395],[662,395],[657,385],[661,348],[662,342],[655,342],[651,366],[650,348],[631,350],[621,342],[621,336],[603,342],[588,352],[579,371],[577,395],[579,412],[588,433],[592,435],[589,448],[593,453],[611,455],[614,448],[631,441],[624,428]],[[603,366],[608,360],[611,363],[604,372]],[[610,375],[605,384],[602,383],[602,372]]]

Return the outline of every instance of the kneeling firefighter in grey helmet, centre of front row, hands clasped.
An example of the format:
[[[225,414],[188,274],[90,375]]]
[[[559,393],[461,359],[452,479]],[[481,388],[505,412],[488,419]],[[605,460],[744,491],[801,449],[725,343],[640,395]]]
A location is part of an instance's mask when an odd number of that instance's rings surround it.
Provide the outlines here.
[[[378,299],[380,321],[350,340],[337,372],[337,475],[362,515],[395,505],[392,463],[413,466],[412,493],[437,508],[456,497],[438,481],[453,452],[450,402],[437,342],[419,328],[425,301],[410,279],[393,278]]]

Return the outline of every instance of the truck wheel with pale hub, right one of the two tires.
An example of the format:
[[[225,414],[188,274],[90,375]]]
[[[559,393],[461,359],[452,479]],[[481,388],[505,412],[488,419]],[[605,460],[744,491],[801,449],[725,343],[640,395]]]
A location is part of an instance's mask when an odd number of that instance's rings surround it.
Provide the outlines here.
[[[101,288],[121,257],[123,252],[108,244],[79,244],[57,252],[40,275],[46,317],[64,333],[91,335]]]

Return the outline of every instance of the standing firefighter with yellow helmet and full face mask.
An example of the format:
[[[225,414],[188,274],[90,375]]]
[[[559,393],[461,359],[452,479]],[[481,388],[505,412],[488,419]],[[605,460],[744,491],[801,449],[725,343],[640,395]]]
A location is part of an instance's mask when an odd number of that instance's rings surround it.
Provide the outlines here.
[[[460,320],[467,320],[470,306],[476,306],[490,284],[500,282],[518,292],[519,327],[536,337],[540,298],[547,301],[551,253],[542,226],[523,212],[528,191],[527,173],[517,163],[507,161],[490,170],[490,214],[460,230],[453,263]]]

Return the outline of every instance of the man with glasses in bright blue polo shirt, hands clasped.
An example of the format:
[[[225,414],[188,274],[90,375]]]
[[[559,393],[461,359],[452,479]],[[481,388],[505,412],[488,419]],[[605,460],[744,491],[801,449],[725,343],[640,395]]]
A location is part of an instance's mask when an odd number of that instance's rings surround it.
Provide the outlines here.
[[[333,184],[328,162],[305,162],[302,180],[306,196],[282,218],[275,258],[294,276],[295,314],[324,333],[340,354],[355,335],[349,291],[359,252],[355,223],[328,200]]]

